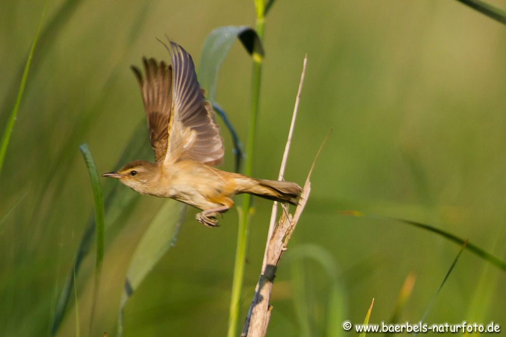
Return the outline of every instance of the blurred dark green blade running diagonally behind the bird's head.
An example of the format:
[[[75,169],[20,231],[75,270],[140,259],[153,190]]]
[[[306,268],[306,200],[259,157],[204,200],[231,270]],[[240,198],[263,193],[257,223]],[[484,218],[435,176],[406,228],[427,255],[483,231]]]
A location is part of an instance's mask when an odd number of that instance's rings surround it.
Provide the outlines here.
[[[148,128],[146,127],[145,123],[145,121],[139,123],[133,132],[129,142],[126,144],[123,153],[121,154],[116,164],[116,167],[119,167],[129,160],[146,158],[148,155],[152,155],[151,146],[149,145],[148,140]],[[139,141],[139,139],[141,139],[141,141]],[[105,216],[107,219],[106,224],[107,230],[110,231],[112,225],[118,220],[121,215],[125,215],[125,212],[133,209],[140,195],[138,193],[125,193],[124,187],[121,184],[118,184],[117,181],[112,181],[111,179],[106,180],[104,190],[104,195],[106,196],[104,205]],[[72,290],[73,270],[75,269],[76,274],[79,273],[82,261],[90,251],[90,247],[93,243],[94,233],[95,218],[92,214],[88,220],[85,232],[82,235],[81,242],[79,243],[79,247],[76,251],[74,262],[70,268],[69,273],[67,274],[65,284],[58,299],[55,314],[51,320],[51,332],[53,335],[56,334],[56,331],[58,330],[65,314],[65,309],[67,307],[70,292]],[[114,237],[112,234],[108,235]]]

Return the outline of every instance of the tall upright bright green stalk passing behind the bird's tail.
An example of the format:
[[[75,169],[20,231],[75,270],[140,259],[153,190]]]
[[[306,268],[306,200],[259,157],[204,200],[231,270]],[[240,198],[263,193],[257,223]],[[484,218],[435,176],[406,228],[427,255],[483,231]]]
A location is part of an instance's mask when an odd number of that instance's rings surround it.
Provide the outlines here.
[[[262,42],[264,39],[265,17],[264,0],[255,0],[257,10],[256,30]],[[253,168],[253,151],[257,129],[257,116],[260,100],[260,83],[262,78],[263,57],[253,53],[253,69],[251,78],[251,109],[249,114],[249,129],[246,142],[246,160],[244,174],[250,176]],[[234,276],[232,279],[232,294],[230,298],[230,311],[227,336],[236,335],[239,321],[240,301],[244,281],[244,266],[246,262],[247,241],[249,235],[249,222],[251,214],[251,196],[246,194],[242,199],[242,208],[239,210],[239,224],[237,228],[237,246],[235,250]]]

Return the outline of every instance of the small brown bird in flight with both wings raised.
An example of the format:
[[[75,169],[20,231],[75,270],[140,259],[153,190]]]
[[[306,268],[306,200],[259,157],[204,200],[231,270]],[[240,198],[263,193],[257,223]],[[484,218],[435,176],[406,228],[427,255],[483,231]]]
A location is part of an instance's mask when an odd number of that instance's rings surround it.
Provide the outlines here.
[[[218,216],[241,193],[297,205],[302,188],[294,182],[263,180],[220,170],[223,138],[212,105],[205,100],[192,57],[167,38],[171,64],[142,58],[143,72],[132,66],[141,89],[155,162],[136,160],[102,174],[117,178],[142,195],[171,198],[202,212],[196,220],[218,226]],[[160,41],[161,42],[161,41]]]

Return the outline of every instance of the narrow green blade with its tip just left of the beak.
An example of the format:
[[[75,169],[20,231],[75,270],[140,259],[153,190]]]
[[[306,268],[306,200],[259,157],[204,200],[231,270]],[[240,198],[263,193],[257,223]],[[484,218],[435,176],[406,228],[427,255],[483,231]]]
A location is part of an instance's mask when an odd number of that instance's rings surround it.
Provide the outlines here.
[[[93,324],[93,316],[95,314],[95,306],[97,303],[98,287],[100,284],[100,275],[102,274],[102,263],[104,261],[104,247],[105,247],[105,211],[104,211],[104,197],[102,196],[102,187],[98,178],[97,167],[93,161],[92,154],[88,145],[83,143],[79,150],[82,157],[85,159],[86,167],[90,175],[90,181],[93,188],[93,202],[95,206],[95,233],[96,233],[96,260],[95,260],[95,283],[93,287],[93,302],[90,318],[90,331]],[[74,269],[75,271],[75,269]]]

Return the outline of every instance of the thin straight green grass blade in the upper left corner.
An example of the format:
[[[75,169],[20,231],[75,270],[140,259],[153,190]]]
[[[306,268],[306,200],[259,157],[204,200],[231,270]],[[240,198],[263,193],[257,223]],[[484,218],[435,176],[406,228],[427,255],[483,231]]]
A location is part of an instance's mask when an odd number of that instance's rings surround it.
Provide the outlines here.
[[[9,140],[11,139],[14,123],[16,122],[19,106],[21,105],[23,92],[25,91],[26,79],[28,78],[28,71],[30,70],[33,53],[35,52],[35,47],[37,46],[40,27],[42,27],[42,23],[44,22],[45,13],[46,13],[46,3],[44,4],[44,9],[42,10],[42,14],[40,15],[40,21],[38,22],[37,31],[35,33],[35,37],[33,38],[30,52],[28,53],[28,58],[26,59],[23,75],[21,76],[21,83],[19,84],[18,94],[16,97],[16,103],[14,103],[14,108],[12,109],[9,119],[7,120],[4,133],[2,134],[2,139],[0,140],[0,174],[2,173],[2,167],[4,166],[5,154],[7,152],[7,147],[9,146]]]

